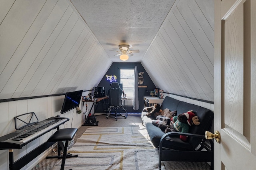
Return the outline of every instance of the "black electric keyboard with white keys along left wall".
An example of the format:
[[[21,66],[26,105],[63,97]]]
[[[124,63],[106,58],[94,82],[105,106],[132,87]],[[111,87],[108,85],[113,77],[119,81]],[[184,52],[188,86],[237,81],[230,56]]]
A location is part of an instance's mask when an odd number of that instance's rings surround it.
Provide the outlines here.
[[[0,150],[22,149],[31,141],[69,121],[66,117],[50,117],[28,127],[0,137]]]

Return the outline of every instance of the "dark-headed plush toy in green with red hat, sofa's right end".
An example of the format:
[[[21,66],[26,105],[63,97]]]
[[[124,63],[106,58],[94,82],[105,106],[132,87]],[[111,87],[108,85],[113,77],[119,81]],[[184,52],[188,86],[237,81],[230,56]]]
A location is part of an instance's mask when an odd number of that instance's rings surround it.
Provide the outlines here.
[[[180,114],[178,116],[172,117],[171,121],[172,122],[170,123],[170,125],[159,125],[159,128],[165,133],[171,131],[189,133],[189,126],[200,125],[198,116],[196,116],[192,112],[192,110],[187,111],[186,113]],[[180,135],[180,139],[182,141],[186,141],[188,137]]]

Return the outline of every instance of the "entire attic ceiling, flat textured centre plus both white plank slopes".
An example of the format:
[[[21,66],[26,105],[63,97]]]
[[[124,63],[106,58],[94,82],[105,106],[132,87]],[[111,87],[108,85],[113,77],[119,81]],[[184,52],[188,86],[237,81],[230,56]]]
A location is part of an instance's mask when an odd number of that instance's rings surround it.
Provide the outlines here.
[[[0,99],[97,86],[118,45],[165,92],[213,101],[213,0],[0,0]]]

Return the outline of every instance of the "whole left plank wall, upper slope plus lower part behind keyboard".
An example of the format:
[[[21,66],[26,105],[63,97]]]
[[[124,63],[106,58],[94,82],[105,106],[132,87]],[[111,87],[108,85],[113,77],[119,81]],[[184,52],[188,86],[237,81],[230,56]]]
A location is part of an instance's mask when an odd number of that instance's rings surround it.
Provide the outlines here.
[[[68,0],[0,0],[0,99],[90,90],[111,64]],[[33,111],[42,121],[60,114],[63,100],[64,96],[53,96],[0,103],[0,136],[16,130],[13,118],[17,115]],[[70,118],[61,128],[80,127],[84,122],[84,114],[76,114],[76,109],[61,116]],[[14,159],[52,133],[14,150]],[[36,166],[46,155],[22,170]],[[0,169],[7,170],[8,162],[8,150],[0,150]]]

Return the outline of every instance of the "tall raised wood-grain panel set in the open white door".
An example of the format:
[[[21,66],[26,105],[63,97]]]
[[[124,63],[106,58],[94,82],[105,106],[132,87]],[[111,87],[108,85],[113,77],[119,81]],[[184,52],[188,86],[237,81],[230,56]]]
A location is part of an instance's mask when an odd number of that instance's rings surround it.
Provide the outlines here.
[[[243,6],[222,21],[224,29],[224,123],[243,134]],[[222,30],[223,30],[222,29]]]

